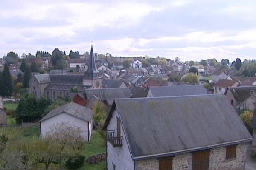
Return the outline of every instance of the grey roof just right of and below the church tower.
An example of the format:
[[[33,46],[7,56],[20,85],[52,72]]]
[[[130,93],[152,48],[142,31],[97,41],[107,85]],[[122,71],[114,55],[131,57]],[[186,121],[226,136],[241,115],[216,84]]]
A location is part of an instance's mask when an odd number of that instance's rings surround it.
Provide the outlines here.
[[[99,99],[106,101],[108,105],[112,105],[114,99],[117,98],[130,98],[129,88],[101,88],[101,89],[85,89],[86,99],[91,100]]]

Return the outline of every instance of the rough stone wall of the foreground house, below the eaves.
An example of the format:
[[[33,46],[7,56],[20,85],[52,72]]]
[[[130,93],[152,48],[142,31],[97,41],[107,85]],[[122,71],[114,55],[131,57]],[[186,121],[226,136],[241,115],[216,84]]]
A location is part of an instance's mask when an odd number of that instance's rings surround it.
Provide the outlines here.
[[[236,158],[226,160],[226,148],[219,147],[210,151],[209,170],[244,170],[246,144],[236,148]],[[173,170],[192,170],[192,153],[177,155],[172,161]],[[135,170],[158,170],[157,159],[136,161]]]

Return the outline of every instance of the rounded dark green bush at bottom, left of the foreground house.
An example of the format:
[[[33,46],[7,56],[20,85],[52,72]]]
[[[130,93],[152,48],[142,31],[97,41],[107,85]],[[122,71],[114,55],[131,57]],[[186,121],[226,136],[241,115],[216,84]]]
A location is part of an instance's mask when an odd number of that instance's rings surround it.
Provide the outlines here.
[[[71,156],[65,161],[65,167],[68,169],[78,169],[84,164],[84,159],[85,157],[81,154]]]

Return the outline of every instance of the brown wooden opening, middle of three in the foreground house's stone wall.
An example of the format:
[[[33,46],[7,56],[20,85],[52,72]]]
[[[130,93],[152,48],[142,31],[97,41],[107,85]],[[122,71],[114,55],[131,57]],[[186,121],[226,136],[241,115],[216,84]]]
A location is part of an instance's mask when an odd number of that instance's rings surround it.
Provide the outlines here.
[[[204,150],[195,152],[192,155],[192,170],[208,170],[209,169],[210,151]]]

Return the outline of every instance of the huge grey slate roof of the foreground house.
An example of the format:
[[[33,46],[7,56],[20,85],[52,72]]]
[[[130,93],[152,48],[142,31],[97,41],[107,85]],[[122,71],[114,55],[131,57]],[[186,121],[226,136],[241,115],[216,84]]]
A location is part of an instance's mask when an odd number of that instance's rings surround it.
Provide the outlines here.
[[[223,94],[115,99],[103,129],[115,109],[135,160],[252,141]]]

